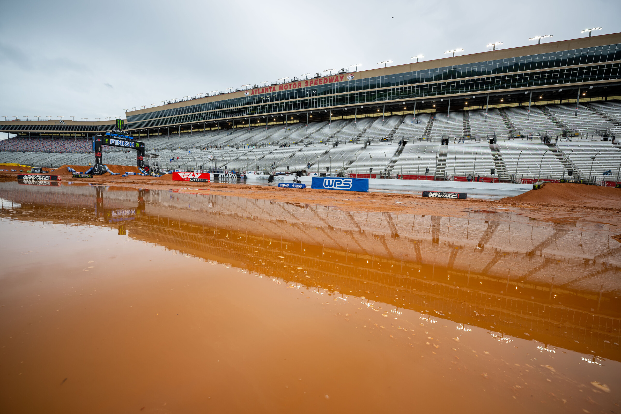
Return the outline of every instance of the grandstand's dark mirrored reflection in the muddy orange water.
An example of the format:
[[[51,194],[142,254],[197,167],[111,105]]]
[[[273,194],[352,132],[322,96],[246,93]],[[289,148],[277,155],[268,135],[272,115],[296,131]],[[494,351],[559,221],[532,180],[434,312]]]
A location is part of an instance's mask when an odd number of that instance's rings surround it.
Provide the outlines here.
[[[0,197],[25,207],[4,209],[5,217],[119,225],[95,220],[92,207],[99,200],[89,186],[0,186]],[[106,191],[101,198],[104,209],[124,212],[140,205],[140,197],[138,191]],[[621,256],[607,246],[609,229],[600,225],[533,226],[502,213],[469,219],[338,214],[238,197],[176,193],[171,199],[156,190],[145,191],[142,208],[144,214],[123,222],[130,237],[287,283],[429,311],[438,321],[494,326],[522,338],[527,331],[531,340],[619,359],[615,298],[621,286],[615,275]],[[250,264],[256,258],[265,266]],[[310,277],[284,271],[283,261]]]

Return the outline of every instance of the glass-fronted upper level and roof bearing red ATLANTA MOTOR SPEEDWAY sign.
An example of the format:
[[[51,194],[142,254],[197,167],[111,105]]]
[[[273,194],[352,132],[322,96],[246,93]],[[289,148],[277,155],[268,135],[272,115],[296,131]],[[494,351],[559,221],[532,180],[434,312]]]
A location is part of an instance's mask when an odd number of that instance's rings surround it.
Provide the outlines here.
[[[619,99],[621,33],[473,53],[366,71],[253,86],[127,112],[125,130],[232,128],[369,112],[446,112],[487,105]],[[111,122],[0,122],[0,132],[93,135]],[[60,135],[60,134],[59,134]]]

